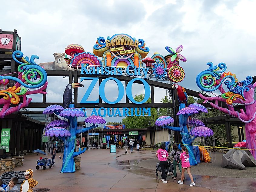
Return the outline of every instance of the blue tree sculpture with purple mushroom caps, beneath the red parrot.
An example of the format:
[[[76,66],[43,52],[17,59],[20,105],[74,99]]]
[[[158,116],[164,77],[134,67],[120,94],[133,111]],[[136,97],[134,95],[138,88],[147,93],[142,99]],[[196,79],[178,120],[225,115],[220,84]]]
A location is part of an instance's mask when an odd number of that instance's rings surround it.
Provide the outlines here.
[[[195,127],[197,125],[200,126],[204,126],[204,123],[200,120],[196,120],[196,119],[192,119],[190,121],[188,121],[188,118],[193,115],[193,114],[198,114],[198,113],[208,113],[207,109],[201,105],[201,104],[190,104],[189,107],[185,107],[185,103],[181,103],[179,106],[179,111],[177,113],[177,115],[179,116],[179,127],[174,127],[174,126],[170,126],[167,124],[163,124],[162,127],[164,128],[168,128],[174,131],[179,131],[181,134],[181,138],[182,138],[182,143],[187,147],[188,152],[189,152],[189,162],[191,165],[196,165],[197,161],[195,159],[195,154],[194,154],[194,150],[193,150],[193,146],[191,146],[192,142],[194,141],[194,139],[196,137],[200,137],[199,134],[194,134],[195,132],[189,132],[188,128],[187,128],[187,122],[188,125],[192,125],[194,131],[196,131],[197,129],[195,129]],[[156,124],[159,122],[156,122]],[[206,127],[208,128],[208,127]],[[205,128],[205,130],[206,130]],[[211,129],[207,129],[207,131],[210,131]],[[193,133],[193,135],[191,134]],[[213,134],[212,130],[211,133]],[[211,134],[211,135],[212,135]],[[206,134],[208,136],[208,134]],[[193,136],[193,137],[191,137]]]

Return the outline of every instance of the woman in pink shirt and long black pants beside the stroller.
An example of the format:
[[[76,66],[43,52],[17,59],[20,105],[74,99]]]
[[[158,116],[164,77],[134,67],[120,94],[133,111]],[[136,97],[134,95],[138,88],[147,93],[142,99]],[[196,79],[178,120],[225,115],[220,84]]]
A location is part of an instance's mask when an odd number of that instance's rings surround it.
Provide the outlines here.
[[[165,174],[165,167],[168,167],[168,162],[167,162],[167,158],[168,158],[168,152],[165,150],[165,144],[161,145],[161,149],[158,149],[155,156],[159,159],[159,165],[161,167],[162,170],[162,174],[161,174],[161,180],[163,183],[167,183],[166,180],[166,174]]]

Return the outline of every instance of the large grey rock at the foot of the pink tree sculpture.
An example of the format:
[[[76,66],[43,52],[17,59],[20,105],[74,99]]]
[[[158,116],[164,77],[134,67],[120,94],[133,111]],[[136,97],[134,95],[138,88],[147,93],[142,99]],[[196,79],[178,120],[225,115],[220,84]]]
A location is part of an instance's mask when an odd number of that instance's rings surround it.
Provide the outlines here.
[[[239,148],[239,149],[235,149]],[[245,170],[245,167],[254,167],[256,166],[256,161],[251,155],[249,150],[245,147],[234,147],[228,151],[228,153],[222,156],[221,167],[230,168],[230,169],[241,169]]]

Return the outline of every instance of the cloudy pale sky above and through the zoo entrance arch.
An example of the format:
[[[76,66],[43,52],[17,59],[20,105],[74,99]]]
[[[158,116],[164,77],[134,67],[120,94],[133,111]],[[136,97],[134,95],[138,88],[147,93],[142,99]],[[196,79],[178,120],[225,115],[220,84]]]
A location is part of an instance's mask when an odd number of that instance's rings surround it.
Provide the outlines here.
[[[195,78],[208,68],[207,62],[226,63],[238,81],[256,74],[255,1],[12,1],[12,6],[3,1],[1,6],[5,9],[0,28],[17,29],[21,51],[38,55],[37,63],[53,61],[53,53],[64,52],[71,43],[93,52],[97,37],[126,33],[145,40],[148,57],[156,51],[168,55],[165,46],[183,45],[181,54],[187,62],[180,62],[186,73],[180,85],[185,88],[199,91]],[[47,101],[62,101],[68,79],[50,77],[48,82]],[[108,86],[106,91],[117,90],[115,85]],[[79,98],[84,90],[79,91]],[[156,102],[166,95],[165,90],[155,92]],[[141,93],[141,87],[134,86],[133,95]]]

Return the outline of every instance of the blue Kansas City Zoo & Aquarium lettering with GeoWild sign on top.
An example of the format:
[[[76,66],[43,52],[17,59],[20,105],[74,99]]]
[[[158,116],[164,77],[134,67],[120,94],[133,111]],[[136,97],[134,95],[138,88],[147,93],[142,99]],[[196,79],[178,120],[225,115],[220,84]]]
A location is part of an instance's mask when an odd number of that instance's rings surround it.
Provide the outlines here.
[[[145,49],[145,42],[142,39],[138,41],[131,38],[126,34],[116,34],[111,38],[105,40],[103,37],[99,37],[94,46],[94,54],[96,56],[102,57],[101,65],[94,66],[90,62],[85,62],[81,65],[81,83],[83,81],[90,81],[88,89],[85,91],[83,98],[80,103],[99,103],[99,98],[96,100],[88,100],[93,88],[98,82],[97,75],[108,75],[108,76],[137,76],[140,78],[134,78],[128,82],[126,88],[120,80],[115,77],[108,77],[102,80],[99,85],[99,96],[102,101],[108,104],[116,104],[121,101],[124,94],[128,99],[135,104],[143,104],[150,97],[150,86],[144,80],[147,77],[149,68],[142,68],[142,58],[145,58],[149,52],[149,48]],[[140,61],[139,61],[140,60]],[[103,65],[102,65],[103,64]],[[83,75],[87,77],[83,77]],[[93,75],[94,77],[88,77],[88,75]],[[118,95],[115,101],[109,101],[105,94],[105,85],[108,81],[114,81],[118,87]],[[135,101],[132,96],[132,84],[135,81],[141,81],[144,86],[145,97],[142,101]],[[86,112],[86,108],[81,108],[81,110]],[[151,116],[151,108],[93,108],[91,115],[99,115],[102,117],[116,117],[116,116]]]

